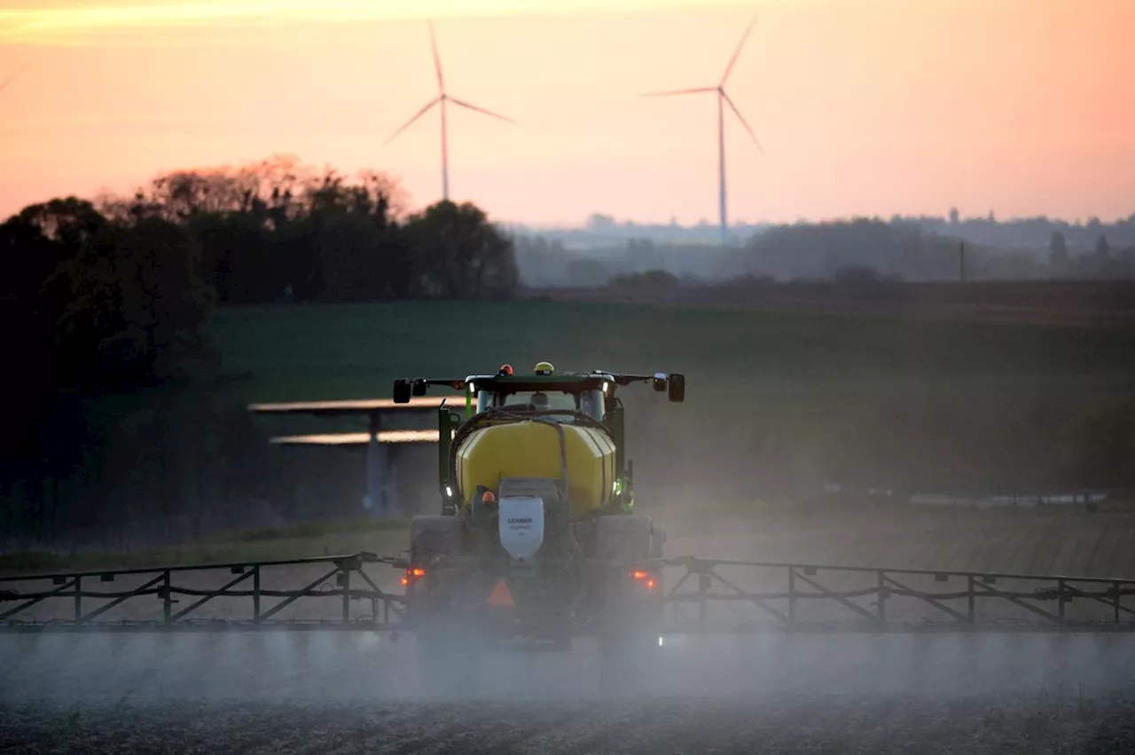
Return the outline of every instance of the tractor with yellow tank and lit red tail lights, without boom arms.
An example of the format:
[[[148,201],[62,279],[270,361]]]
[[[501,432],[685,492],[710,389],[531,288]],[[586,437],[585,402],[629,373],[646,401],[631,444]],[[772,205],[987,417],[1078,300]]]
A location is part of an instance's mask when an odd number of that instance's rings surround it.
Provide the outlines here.
[[[438,410],[437,514],[411,523],[404,623],[427,685],[472,685],[482,651],[571,649],[594,635],[604,677],[634,678],[659,645],[664,532],[634,513],[619,388],[650,384],[682,402],[680,374],[495,375],[400,379],[394,402],[430,387]]]

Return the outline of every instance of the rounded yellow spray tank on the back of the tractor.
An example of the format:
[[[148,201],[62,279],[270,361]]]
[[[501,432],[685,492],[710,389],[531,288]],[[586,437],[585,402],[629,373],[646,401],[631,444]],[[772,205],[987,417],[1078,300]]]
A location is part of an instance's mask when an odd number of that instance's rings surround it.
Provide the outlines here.
[[[520,420],[473,430],[453,450],[457,489],[471,503],[478,486],[496,490],[510,477],[566,478],[575,515],[603,509],[615,495],[615,443],[597,427]]]

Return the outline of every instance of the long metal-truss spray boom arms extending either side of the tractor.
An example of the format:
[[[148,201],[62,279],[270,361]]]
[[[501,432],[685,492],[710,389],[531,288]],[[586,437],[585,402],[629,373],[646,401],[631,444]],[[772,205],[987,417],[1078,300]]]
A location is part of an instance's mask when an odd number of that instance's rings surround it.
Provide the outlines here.
[[[407,598],[382,590],[368,565],[401,569],[403,559],[380,557],[371,553],[334,555],[287,561],[245,561],[201,565],[154,567],[85,572],[61,572],[0,578],[0,632],[12,631],[216,631],[216,630],[365,630],[394,631],[402,624]],[[650,565],[650,564],[648,564]],[[801,563],[712,560],[697,557],[664,559],[653,562],[664,570],[679,570],[664,601],[672,615],[664,634],[756,634],[763,631],[1132,631],[1135,632],[1135,579],[1023,574],[977,571],[934,571],[925,569],[878,569]],[[264,587],[264,574],[287,569],[319,569],[297,578],[302,585],[281,589]],[[770,579],[782,589],[747,590],[728,570],[739,570],[748,578]],[[823,580],[819,577],[824,572]],[[190,574],[229,576],[219,587],[185,585]],[[356,579],[352,587],[352,578]],[[127,589],[93,590],[91,582],[128,581]],[[251,587],[242,582],[251,580]],[[931,589],[923,582],[957,580],[959,588]],[[834,582],[843,582],[836,585]],[[850,582],[850,584],[849,584]],[[50,584],[50,585],[48,585]],[[26,587],[31,587],[27,589]],[[17,589],[17,586],[24,589]],[[238,588],[238,586],[242,586]],[[1031,589],[1026,589],[1031,586]],[[687,587],[688,589],[682,589]],[[135,620],[98,620],[127,601],[157,597],[153,616]],[[195,598],[185,607],[175,607],[177,597]],[[243,601],[243,618],[220,612],[203,615],[201,607],[217,598]],[[280,598],[270,606],[264,601]],[[339,609],[317,618],[275,618],[301,598],[338,598]],[[931,609],[914,619],[889,607],[907,598],[911,604]],[[31,609],[48,601],[67,601],[72,610],[54,618],[32,616]],[[91,601],[103,602],[91,607]],[[85,602],[85,605],[84,605]],[[353,615],[352,603],[369,604],[370,612]],[[998,603],[993,613],[978,604]],[[1041,607],[1056,602],[1054,610]],[[15,605],[12,605],[15,604]],[[733,604],[750,610],[734,621],[711,615],[712,604]],[[833,621],[830,615],[809,618],[808,606],[824,604],[846,611],[850,621]],[[153,606],[153,604],[151,604]],[[216,603],[213,605],[217,605]],[[697,606],[689,619],[684,609]],[[160,612],[159,610],[160,609]],[[1008,609],[1010,614],[1006,615]],[[902,614],[907,615],[903,616]],[[906,619],[906,620],[905,620]]]

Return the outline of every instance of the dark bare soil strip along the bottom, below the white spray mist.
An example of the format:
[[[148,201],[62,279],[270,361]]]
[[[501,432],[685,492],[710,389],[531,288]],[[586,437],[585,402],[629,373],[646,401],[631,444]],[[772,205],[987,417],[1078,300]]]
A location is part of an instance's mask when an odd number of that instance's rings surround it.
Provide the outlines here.
[[[31,753],[692,755],[1129,753],[1123,697],[909,695],[750,699],[0,704],[0,749]]]

